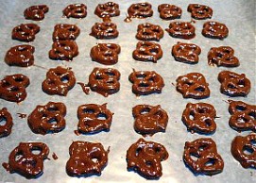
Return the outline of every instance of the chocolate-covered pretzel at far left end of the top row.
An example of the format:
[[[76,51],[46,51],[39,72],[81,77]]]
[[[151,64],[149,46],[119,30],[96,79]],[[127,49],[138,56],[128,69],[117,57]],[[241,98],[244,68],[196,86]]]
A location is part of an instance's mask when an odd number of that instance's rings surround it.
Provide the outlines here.
[[[48,12],[49,8],[46,5],[31,6],[25,9],[24,17],[27,20],[42,21],[44,14]]]

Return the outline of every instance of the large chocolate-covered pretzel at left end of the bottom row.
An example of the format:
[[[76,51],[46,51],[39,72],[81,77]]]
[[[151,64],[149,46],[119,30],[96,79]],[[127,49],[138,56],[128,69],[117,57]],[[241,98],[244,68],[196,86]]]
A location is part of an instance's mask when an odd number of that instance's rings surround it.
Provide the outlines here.
[[[43,142],[21,142],[10,152],[9,163],[3,163],[3,166],[10,174],[37,178],[43,175],[43,160],[48,155],[49,148]]]

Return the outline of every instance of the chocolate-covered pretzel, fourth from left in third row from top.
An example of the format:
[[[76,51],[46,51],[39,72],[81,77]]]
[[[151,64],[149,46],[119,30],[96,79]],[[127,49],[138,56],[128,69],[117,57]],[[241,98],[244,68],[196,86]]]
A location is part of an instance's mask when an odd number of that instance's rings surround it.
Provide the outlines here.
[[[162,58],[162,47],[155,42],[138,42],[132,57],[139,61],[152,61],[156,63]]]

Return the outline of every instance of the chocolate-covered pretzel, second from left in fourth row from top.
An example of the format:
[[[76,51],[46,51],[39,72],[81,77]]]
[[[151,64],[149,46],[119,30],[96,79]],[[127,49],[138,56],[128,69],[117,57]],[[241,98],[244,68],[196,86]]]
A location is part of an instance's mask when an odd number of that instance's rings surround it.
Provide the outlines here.
[[[76,84],[76,77],[70,68],[50,69],[46,74],[46,79],[42,83],[42,89],[47,94],[59,94],[66,96]]]

